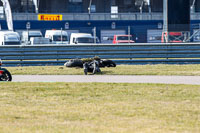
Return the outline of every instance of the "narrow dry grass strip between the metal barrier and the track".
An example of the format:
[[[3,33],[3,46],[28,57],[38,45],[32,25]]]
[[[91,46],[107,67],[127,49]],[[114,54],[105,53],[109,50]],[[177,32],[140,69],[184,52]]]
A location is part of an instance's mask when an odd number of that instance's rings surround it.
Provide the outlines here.
[[[9,67],[16,75],[83,75],[83,69],[64,66]],[[196,75],[200,65],[119,65],[116,68],[101,68],[104,75]]]

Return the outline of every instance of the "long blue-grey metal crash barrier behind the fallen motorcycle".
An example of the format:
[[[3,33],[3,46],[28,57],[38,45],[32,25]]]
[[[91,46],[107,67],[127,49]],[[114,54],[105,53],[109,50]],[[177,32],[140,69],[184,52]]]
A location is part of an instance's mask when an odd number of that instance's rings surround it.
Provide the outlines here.
[[[63,65],[74,58],[117,64],[200,64],[200,43],[0,46],[5,66]]]

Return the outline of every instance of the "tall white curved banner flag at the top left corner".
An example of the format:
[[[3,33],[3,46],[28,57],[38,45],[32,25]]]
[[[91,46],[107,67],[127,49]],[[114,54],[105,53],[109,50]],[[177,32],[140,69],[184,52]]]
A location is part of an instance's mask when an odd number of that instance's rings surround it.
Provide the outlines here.
[[[8,30],[13,31],[13,19],[12,19],[12,12],[11,12],[11,8],[10,8],[10,3],[8,0],[1,0],[3,3],[3,7],[5,10],[5,14],[6,14],[6,21],[7,21],[7,26],[8,26]]]

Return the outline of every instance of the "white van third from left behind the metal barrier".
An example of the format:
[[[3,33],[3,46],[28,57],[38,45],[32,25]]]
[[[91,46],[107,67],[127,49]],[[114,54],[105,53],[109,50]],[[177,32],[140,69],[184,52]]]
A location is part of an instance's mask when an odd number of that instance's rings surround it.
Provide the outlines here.
[[[69,44],[68,33],[63,30],[46,30],[45,38],[53,44]]]

